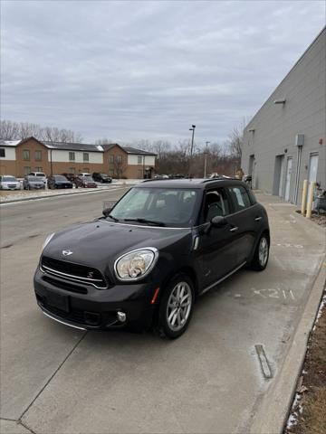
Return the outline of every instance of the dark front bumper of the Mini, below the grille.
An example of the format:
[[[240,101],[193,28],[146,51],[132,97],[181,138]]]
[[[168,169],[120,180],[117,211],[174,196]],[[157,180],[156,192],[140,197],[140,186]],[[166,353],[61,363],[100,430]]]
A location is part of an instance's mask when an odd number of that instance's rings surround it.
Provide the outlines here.
[[[155,293],[153,283],[116,285],[98,289],[75,285],[62,278],[53,278],[39,268],[34,275],[37,304],[47,316],[77,328],[114,329],[127,325],[148,328],[153,319],[154,306],[150,301]],[[83,291],[78,293],[75,291]],[[118,312],[126,314],[121,323]]]

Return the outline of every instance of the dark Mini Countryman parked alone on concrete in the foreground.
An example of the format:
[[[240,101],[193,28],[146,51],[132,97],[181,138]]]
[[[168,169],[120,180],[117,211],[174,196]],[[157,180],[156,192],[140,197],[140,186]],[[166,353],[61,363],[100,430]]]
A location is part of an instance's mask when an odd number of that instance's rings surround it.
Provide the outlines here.
[[[44,243],[37,303],[65,325],[154,326],[176,338],[198,296],[245,265],[267,265],[267,214],[238,180],[143,182],[103,214]]]

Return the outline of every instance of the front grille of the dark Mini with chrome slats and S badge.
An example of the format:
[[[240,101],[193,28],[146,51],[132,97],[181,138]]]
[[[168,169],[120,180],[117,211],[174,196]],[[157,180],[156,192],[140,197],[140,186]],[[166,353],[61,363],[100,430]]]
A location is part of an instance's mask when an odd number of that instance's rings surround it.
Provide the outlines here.
[[[108,288],[108,284],[101,272],[98,269],[93,269],[85,265],[43,256],[41,269],[46,274],[51,274],[62,279],[92,285],[100,289]]]

